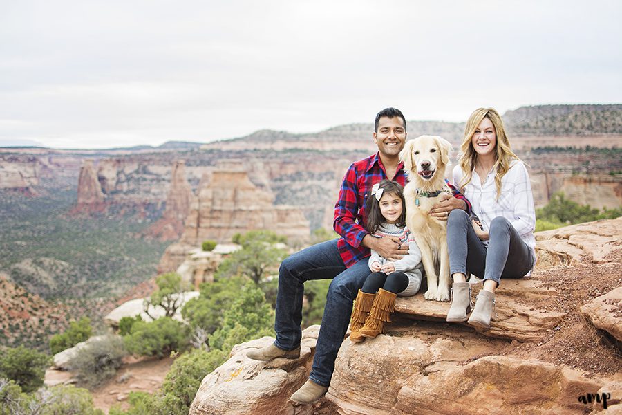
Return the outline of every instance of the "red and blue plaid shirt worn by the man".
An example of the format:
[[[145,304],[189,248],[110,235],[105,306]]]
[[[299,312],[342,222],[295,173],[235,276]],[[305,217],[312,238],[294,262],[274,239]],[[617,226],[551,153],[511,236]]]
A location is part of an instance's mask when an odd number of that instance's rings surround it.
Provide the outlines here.
[[[339,199],[334,205],[334,231],[341,235],[337,241],[339,254],[343,259],[343,264],[350,267],[363,258],[369,257],[369,248],[361,244],[367,232],[363,224],[367,221],[365,212],[365,201],[371,188],[375,183],[387,178],[386,170],[379,153],[352,163],[343,176],[343,183],[339,189]],[[404,163],[397,165],[397,172],[393,177],[400,185],[406,185],[406,174],[404,173]],[[469,210],[471,203],[458,192],[452,185],[454,196],[466,201]]]

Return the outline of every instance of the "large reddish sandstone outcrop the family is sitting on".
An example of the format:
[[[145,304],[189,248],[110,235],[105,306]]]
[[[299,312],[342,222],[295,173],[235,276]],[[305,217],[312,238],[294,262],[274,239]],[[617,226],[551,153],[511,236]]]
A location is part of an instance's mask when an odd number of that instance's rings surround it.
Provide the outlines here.
[[[398,299],[386,334],[362,344],[347,339],[341,344],[328,394],[318,404],[328,401],[336,407],[332,413],[344,415],[579,415],[602,410],[605,394],[603,414],[622,412],[619,346],[608,344],[578,312],[583,306],[586,315],[601,320],[606,312],[612,320],[594,325],[610,333],[622,322],[621,221],[537,234],[536,248],[545,263],[530,277],[502,280],[491,329],[445,322],[446,303],[427,302],[420,295]],[[572,258],[574,265],[549,261],[546,252]],[[594,295],[601,290],[608,293]],[[259,347],[270,339],[254,340],[243,349],[254,342]],[[302,368],[308,373],[309,362],[288,362],[288,374],[298,379]],[[274,369],[280,364],[254,362],[234,349],[232,358],[205,378],[190,413],[254,414],[261,413],[254,412],[254,405],[270,405],[276,414],[319,414],[314,405],[288,407],[294,387]],[[237,374],[242,382],[229,385]],[[260,379],[266,387],[245,394],[242,385],[251,385],[243,383],[250,379]],[[221,401],[236,412],[225,410]]]

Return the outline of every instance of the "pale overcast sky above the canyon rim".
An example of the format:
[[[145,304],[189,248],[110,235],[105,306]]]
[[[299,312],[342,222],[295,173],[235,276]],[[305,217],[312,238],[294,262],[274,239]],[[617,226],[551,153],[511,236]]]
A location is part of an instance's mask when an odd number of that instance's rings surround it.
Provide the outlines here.
[[[621,1],[0,0],[0,145],[622,102]]]

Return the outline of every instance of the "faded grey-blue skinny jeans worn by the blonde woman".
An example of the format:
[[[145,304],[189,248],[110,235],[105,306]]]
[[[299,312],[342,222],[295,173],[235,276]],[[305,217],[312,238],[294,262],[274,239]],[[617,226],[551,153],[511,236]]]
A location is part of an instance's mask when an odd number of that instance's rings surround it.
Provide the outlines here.
[[[503,216],[491,222],[487,247],[475,234],[469,214],[452,210],[447,220],[447,248],[451,275],[468,271],[497,284],[501,277],[524,277],[534,264],[534,253]]]

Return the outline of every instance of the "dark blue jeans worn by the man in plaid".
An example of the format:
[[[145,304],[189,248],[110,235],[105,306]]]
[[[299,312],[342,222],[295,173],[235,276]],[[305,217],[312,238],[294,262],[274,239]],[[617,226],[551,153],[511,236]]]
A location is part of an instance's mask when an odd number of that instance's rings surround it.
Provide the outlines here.
[[[334,239],[290,255],[279,268],[274,345],[283,350],[300,345],[304,282],[332,278],[309,375],[318,385],[330,385],[334,360],[350,323],[352,302],[370,273],[367,262],[367,258],[361,259],[346,268],[337,249],[337,239]]]

